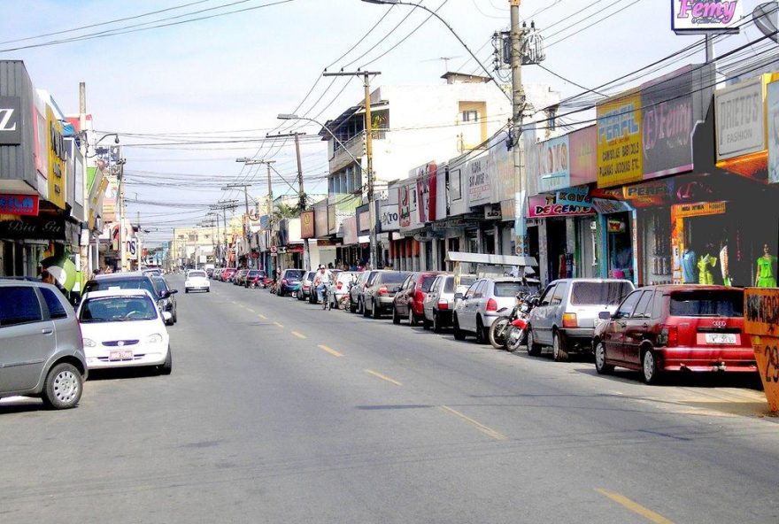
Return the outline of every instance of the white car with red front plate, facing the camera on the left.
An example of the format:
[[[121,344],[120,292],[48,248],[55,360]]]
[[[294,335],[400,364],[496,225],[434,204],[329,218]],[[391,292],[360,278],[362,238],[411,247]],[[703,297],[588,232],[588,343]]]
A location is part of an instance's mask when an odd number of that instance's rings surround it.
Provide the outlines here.
[[[77,317],[89,369],[154,366],[170,374],[173,358],[160,312],[145,289],[109,289],[84,295]]]

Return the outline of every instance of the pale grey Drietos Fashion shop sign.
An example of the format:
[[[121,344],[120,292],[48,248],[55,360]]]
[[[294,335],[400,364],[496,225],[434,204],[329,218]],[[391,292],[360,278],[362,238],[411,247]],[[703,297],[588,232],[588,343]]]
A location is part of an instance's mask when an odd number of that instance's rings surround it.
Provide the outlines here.
[[[714,93],[717,161],[766,150],[764,85],[760,77]]]

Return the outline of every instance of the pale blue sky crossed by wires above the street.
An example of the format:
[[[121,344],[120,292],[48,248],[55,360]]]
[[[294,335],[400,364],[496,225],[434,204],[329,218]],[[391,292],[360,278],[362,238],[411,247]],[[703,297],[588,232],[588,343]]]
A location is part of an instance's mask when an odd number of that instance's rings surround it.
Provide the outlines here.
[[[204,14],[256,7],[272,1],[244,0],[232,7]],[[3,36],[0,40],[10,41],[99,24],[189,2],[192,0],[4,0],[4,16],[0,19],[0,35]],[[153,17],[102,25],[76,34],[104,31],[232,2],[208,0]],[[435,9],[442,2],[425,0],[423,4]],[[588,10],[574,14],[590,4]],[[746,2],[744,13],[752,12],[756,4],[756,1]],[[396,6],[364,42],[345,58],[337,60],[388,9],[389,6],[365,4],[359,0],[294,0],[174,27],[5,51],[0,56],[24,60],[35,86],[48,89],[65,112],[77,112],[78,85],[80,81],[85,81],[88,111],[94,115],[96,127],[106,132],[206,132],[210,134],[206,136],[213,136],[218,131],[261,129],[219,135],[258,137],[279,124],[275,118],[278,113],[295,110],[325,66],[336,62],[331,70],[337,70],[342,66],[354,69],[366,65],[427,17],[427,13],[421,10],[412,12],[410,7]],[[587,87],[595,87],[629,73],[699,39],[673,34],[669,22],[670,9],[667,0],[523,0],[521,3],[523,17],[543,10],[533,18],[537,27],[544,30],[556,24],[545,30],[548,43],[581,30],[551,45],[547,49],[544,66]],[[598,13],[600,10],[604,11]],[[612,12],[616,14],[611,18],[587,27]],[[480,58],[488,58],[491,45],[485,44],[490,35],[508,25],[508,0],[448,0],[439,14],[472,50],[478,50]],[[407,15],[408,18],[401,22]],[[588,15],[593,16],[574,25]],[[398,23],[397,30],[379,42]],[[747,37],[737,35],[729,38],[718,51],[743,45]],[[2,43],[0,49],[52,38],[56,37]],[[365,58],[350,64],[364,52]],[[441,57],[456,57],[449,62],[450,69],[478,73],[474,61],[467,60],[467,51],[436,19],[428,20],[397,49],[367,66],[382,72],[374,80],[375,85],[438,83],[444,69],[443,61],[438,59]],[[703,53],[700,52],[686,63],[702,59]],[[675,67],[681,65],[676,64]],[[523,78],[528,82],[547,82],[564,96],[581,91],[535,66],[524,67]],[[362,96],[359,81],[351,81],[344,89],[346,83],[347,80],[338,79],[326,91],[330,80],[320,80],[298,113],[310,110],[309,116],[319,115],[317,118],[322,120],[336,117]],[[341,89],[342,95],[336,96]],[[319,103],[314,104],[320,96]],[[282,129],[287,127],[289,124]],[[315,127],[304,127],[302,130],[309,134],[317,131]],[[149,143],[149,140],[123,137],[122,142]],[[295,163],[291,143],[283,148],[265,145],[258,150],[258,147],[257,144],[246,146],[235,143],[213,144],[197,150],[184,150],[181,146],[165,150],[127,147],[124,155],[128,172],[210,175],[224,181],[243,180],[248,175],[249,181],[258,184],[252,192],[260,196],[266,188],[264,176],[249,170],[242,172],[241,165],[235,162],[236,157],[256,153],[260,157],[273,155],[278,161],[277,169],[290,178],[294,176]],[[305,141],[303,153],[305,173],[311,180],[307,189],[323,190],[324,186],[316,182],[327,169],[324,144]],[[201,180],[197,176],[192,178]],[[274,193],[278,195],[285,189],[286,185],[279,181],[274,186]],[[136,186],[128,191],[129,196],[137,192],[139,198],[145,200],[190,203],[214,202],[225,196],[237,196],[236,193],[223,193],[219,188],[185,185],[178,188]],[[158,223],[160,231],[155,234],[158,240],[167,235],[164,231],[166,227],[184,223],[190,218],[192,223],[202,219],[202,213],[196,211],[176,211],[179,213],[177,216],[167,218],[165,214],[169,211],[165,208],[135,204],[130,205],[130,211],[132,216],[140,211],[142,220],[147,223]]]

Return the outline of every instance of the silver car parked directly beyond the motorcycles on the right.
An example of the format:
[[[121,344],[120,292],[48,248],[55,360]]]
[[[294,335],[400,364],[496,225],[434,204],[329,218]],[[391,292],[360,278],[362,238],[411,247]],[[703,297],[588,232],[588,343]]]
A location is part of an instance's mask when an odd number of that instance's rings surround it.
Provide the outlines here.
[[[464,340],[468,333],[474,333],[477,343],[487,343],[490,326],[499,316],[497,311],[512,308],[517,294],[532,294],[539,288],[535,279],[501,277],[475,281],[464,295],[454,295],[454,338]]]

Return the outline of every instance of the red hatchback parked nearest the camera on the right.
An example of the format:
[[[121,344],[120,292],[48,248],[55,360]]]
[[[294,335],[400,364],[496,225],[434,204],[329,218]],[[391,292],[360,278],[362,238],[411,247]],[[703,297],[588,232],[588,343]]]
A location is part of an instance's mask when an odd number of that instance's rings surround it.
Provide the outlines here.
[[[595,367],[642,372],[648,384],[671,371],[756,373],[744,334],[744,290],[667,285],[636,289],[595,330]]]

